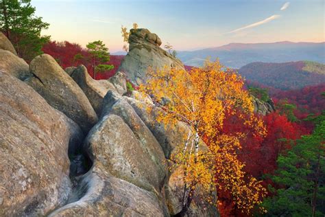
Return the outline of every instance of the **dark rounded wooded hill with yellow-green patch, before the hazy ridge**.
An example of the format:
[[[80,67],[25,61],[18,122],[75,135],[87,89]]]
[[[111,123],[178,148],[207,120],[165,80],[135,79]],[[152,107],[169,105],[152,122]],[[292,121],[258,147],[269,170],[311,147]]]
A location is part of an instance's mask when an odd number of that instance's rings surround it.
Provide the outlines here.
[[[325,65],[318,62],[252,62],[238,72],[251,82],[290,90],[325,83]]]

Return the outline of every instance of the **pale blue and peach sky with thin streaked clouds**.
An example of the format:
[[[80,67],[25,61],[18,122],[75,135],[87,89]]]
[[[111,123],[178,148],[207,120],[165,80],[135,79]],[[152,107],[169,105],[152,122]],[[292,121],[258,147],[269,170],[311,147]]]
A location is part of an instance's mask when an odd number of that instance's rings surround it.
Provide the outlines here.
[[[121,25],[147,28],[176,50],[228,43],[325,41],[324,0],[32,0],[53,41],[104,41],[122,50]]]

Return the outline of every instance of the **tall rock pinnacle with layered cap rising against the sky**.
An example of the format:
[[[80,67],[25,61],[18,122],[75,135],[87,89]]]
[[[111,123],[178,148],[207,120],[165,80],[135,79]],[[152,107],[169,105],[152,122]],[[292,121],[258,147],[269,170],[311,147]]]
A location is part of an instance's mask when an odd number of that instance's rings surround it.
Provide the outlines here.
[[[161,40],[147,29],[132,29],[129,36],[129,52],[123,58],[118,71],[123,71],[135,84],[145,82],[147,69],[178,67],[182,62],[160,48]]]

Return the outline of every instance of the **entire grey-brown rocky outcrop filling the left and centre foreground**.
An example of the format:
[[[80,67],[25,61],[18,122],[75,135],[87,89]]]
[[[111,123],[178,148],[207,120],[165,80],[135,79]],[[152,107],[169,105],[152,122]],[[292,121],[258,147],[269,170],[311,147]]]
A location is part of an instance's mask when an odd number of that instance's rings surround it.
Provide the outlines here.
[[[143,36],[151,45],[142,49],[158,51],[143,62],[160,54],[173,62],[158,47],[158,36],[143,31],[134,31],[130,40]],[[184,142],[182,122],[176,128],[156,122],[158,108],[149,96],[124,95],[122,73],[96,81],[85,67],[66,72],[46,54],[27,65],[5,40],[0,41],[0,216],[180,212],[182,172],[168,168],[174,148]],[[198,199],[204,195],[197,196],[189,216],[218,215]]]

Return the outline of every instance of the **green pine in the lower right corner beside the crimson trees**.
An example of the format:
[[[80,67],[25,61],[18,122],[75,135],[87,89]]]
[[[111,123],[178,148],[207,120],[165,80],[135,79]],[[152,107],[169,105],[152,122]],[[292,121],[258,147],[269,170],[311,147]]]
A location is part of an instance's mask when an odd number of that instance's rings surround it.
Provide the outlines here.
[[[315,119],[312,135],[305,135],[285,155],[278,157],[278,170],[270,187],[273,197],[263,206],[267,216],[325,215],[325,115]]]

